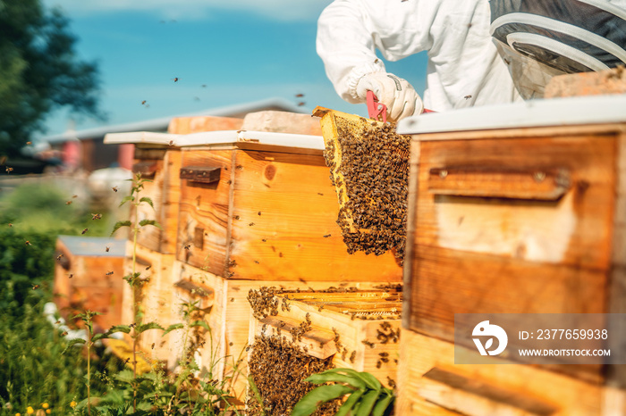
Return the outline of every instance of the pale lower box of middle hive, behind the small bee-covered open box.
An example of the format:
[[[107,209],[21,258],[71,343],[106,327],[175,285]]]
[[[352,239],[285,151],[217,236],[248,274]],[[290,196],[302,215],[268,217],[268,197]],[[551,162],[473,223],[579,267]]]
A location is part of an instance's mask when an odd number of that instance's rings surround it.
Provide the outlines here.
[[[148,289],[155,279],[158,279],[157,275],[150,278],[146,286]],[[228,386],[232,385],[235,398],[239,401],[235,403],[240,404],[243,404],[247,388],[245,349],[250,335],[251,310],[247,299],[250,290],[257,291],[261,287],[283,287],[285,290],[306,290],[312,287],[319,290],[337,285],[337,282],[330,281],[305,283],[277,280],[230,280],[180,261],[173,262],[171,277],[164,276],[160,279],[169,283],[160,284],[160,287],[164,288],[162,292],[164,296],[156,300],[155,317],[151,320],[159,322],[162,326],[184,322],[181,305],[197,302],[202,312],[198,319],[205,320],[211,332],[209,336],[206,331],[199,330],[199,335],[204,339],[196,344],[202,344],[202,342],[204,344],[199,346],[196,361],[200,368],[213,369],[215,379],[225,380]],[[351,287],[371,288],[376,285],[378,283],[358,282],[351,284]],[[169,298],[167,298],[167,287],[171,291]],[[148,304],[151,302],[149,296],[142,295],[141,298],[146,300],[142,303],[143,307],[149,310]],[[146,334],[150,332],[160,337],[160,331],[147,331]],[[173,369],[181,357],[183,336],[183,330],[177,329],[163,339],[146,339],[141,344],[142,350],[153,359],[166,361],[168,367]],[[153,342],[154,347],[152,347]]]

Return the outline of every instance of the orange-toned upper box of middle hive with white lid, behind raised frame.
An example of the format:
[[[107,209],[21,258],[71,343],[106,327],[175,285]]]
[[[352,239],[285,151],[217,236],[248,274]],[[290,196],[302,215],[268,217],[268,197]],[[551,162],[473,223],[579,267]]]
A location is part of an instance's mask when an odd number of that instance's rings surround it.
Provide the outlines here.
[[[401,279],[391,253],[347,253],[322,137],[216,132],[197,137],[205,146],[188,138],[178,260],[228,279]]]

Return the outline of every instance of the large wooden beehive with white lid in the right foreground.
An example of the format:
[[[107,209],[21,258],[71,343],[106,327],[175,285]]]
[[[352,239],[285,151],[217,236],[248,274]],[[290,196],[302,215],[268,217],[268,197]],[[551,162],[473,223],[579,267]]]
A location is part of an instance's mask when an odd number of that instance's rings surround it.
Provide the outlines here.
[[[455,313],[624,312],[625,108],[589,97],[402,122],[401,414],[621,414],[622,392],[615,407],[603,387],[623,386],[620,370],[455,365],[451,352]]]

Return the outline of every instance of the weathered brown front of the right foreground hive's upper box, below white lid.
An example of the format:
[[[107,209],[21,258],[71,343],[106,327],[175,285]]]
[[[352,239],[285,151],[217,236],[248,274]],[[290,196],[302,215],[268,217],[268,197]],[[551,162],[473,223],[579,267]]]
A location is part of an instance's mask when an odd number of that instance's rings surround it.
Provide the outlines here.
[[[607,311],[616,141],[558,131],[419,143],[407,328],[452,340],[454,313]],[[448,179],[467,186],[441,174],[454,170],[480,171],[465,179],[484,197],[443,195]],[[567,191],[546,200],[550,187]]]

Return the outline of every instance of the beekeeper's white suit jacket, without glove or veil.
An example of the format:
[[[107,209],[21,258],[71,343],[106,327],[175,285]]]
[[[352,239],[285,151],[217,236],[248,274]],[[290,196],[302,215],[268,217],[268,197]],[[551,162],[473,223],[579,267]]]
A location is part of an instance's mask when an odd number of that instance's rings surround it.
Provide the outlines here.
[[[337,94],[352,104],[364,75],[428,53],[424,106],[436,112],[520,100],[489,34],[487,0],[335,0],[317,23],[317,54]],[[402,74],[395,74],[400,75]]]

